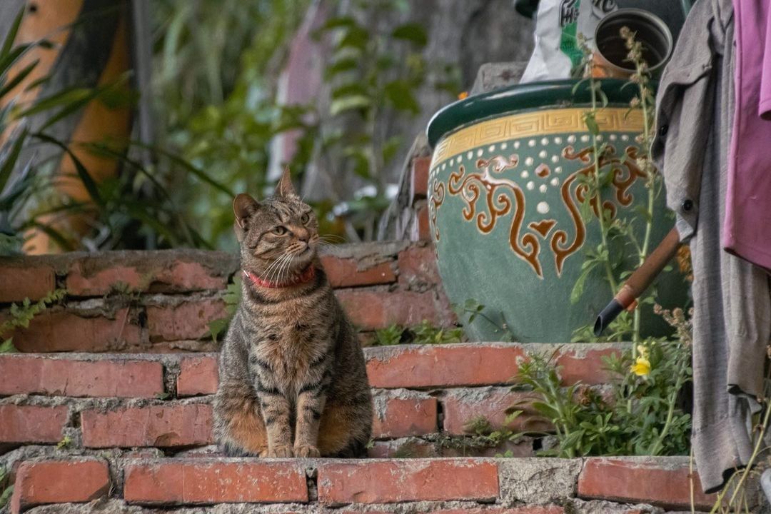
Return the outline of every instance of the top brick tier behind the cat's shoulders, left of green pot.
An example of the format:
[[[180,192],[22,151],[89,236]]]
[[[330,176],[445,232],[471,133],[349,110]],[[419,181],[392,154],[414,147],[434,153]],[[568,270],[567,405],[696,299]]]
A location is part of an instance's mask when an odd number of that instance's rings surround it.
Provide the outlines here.
[[[392,242],[333,251],[322,262],[362,341],[394,323],[453,323],[430,247]],[[21,351],[210,351],[216,345],[208,323],[226,315],[224,289],[237,270],[236,257],[199,250],[5,258],[0,321],[10,302],[64,287],[62,305],[12,334]]]

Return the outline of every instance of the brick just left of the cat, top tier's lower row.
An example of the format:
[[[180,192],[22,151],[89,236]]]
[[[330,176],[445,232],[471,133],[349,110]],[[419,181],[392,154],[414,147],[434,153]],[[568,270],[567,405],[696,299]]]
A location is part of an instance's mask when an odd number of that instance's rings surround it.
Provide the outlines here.
[[[179,305],[147,307],[151,341],[200,339],[209,333],[210,321],[226,317],[220,299],[187,301]]]

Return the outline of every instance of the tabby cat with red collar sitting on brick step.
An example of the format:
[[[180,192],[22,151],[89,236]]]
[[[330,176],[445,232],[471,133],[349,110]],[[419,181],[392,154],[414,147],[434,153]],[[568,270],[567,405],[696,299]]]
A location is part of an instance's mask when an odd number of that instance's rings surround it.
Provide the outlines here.
[[[318,260],[318,222],[284,171],[234,202],[243,294],[224,340],[214,431],[227,455],[358,457],[372,431],[364,355]]]

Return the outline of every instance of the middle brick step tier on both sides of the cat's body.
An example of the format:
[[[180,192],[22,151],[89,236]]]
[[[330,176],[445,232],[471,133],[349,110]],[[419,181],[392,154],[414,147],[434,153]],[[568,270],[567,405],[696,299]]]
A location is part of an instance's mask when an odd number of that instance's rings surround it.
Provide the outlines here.
[[[606,380],[601,358],[618,345],[540,345],[570,362],[566,385]],[[464,425],[480,415],[503,425],[521,399],[507,384],[521,344],[398,345],[365,348],[375,416],[370,454],[534,455],[534,438],[480,447]],[[409,372],[406,372],[409,371]],[[213,452],[212,395],[217,354],[7,354],[0,356],[0,448],[164,448],[169,454]],[[533,412],[512,428],[548,430]]]

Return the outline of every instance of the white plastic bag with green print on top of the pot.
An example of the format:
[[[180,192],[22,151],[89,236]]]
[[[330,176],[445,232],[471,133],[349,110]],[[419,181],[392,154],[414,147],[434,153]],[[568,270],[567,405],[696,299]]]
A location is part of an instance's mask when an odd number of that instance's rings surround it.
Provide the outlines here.
[[[582,57],[576,36],[594,48],[594,29],[616,8],[615,0],[540,0],[535,49],[520,82],[570,78]]]

